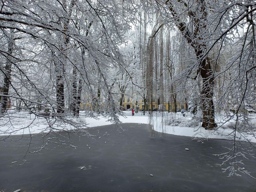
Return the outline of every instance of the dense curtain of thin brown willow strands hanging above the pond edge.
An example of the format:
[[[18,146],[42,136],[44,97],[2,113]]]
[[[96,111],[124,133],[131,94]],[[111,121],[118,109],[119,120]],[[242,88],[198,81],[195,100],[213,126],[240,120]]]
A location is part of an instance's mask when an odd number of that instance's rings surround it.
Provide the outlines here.
[[[159,13],[159,12],[158,12]],[[154,124],[153,118],[153,104],[157,103],[158,111],[156,116],[160,114],[163,117],[165,110],[164,102],[169,101],[170,92],[173,92],[173,86],[167,83],[172,78],[173,66],[170,62],[170,36],[166,33],[164,25],[160,22],[162,19],[161,15],[156,16],[156,24],[153,27],[152,33],[148,38],[147,44],[147,65],[146,65],[146,86],[148,103],[150,106],[150,118],[149,123]],[[169,39],[168,39],[169,38]],[[175,102],[176,103],[176,102]],[[168,106],[169,107],[169,106]],[[160,119],[162,125],[162,135],[164,133],[163,118]]]

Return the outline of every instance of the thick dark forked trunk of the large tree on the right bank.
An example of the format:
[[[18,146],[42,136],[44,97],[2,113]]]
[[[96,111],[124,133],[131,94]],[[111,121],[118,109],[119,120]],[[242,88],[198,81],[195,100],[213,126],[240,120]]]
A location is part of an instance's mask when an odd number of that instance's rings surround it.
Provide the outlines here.
[[[166,0],[165,4],[168,6],[170,13],[175,19],[175,25],[178,27],[183,37],[187,40],[187,43],[190,44],[195,51],[197,61],[199,62],[200,75],[203,81],[201,90],[203,111],[202,127],[205,129],[213,129],[217,126],[214,120],[214,79],[209,58],[207,55],[205,55],[207,50],[207,39],[204,39],[202,36],[202,34],[207,31],[207,27],[205,25],[207,22],[205,2],[201,1],[200,4],[198,4],[200,5],[198,7],[199,12],[196,12],[196,14],[191,18],[194,26],[193,31],[189,30],[187,24],[180,20],[180,15],[176,12],[175,7],[173,7],[170,0]]]

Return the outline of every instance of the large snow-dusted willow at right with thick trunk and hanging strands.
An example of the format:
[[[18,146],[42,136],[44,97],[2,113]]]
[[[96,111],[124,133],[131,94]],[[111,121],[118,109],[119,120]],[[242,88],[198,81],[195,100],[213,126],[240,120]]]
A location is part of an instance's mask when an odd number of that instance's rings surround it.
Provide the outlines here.
[[[162,73],[160,71],[162,65],[161,39],[163,35],[161,36],[161,30],[163,27],[171,26],[171,30],[176,30],[177,33],[183,37],[184,41],[181,45],[186,44],[186,46],[190,47],[190,56],[194,58],[194,61],[178,70],[179,76],[177,76],[176,82],[178,82],[180,90],[182,89],[181,87],[185,88],[188,82],[194,85],[194,87],[198,85],[197,89],[200,89],[200,108],[202,109],[202,127],[205,129],[213,129],[217,127],[215,122],[214,88],[217,87],[218,89],[221,87],[220,77],[218,77],[221,70],[219,67],[221,57],[218,52],[221,53],[223,51],[221,49],[223,48],[222,44],[224,42],[224,40],[221,42],[221,39],[222,37],[228,38],[227,34],[232,33],[232,28],[243,21],[243,19],[249,18],[248,23],[250,26],[254,26],[254,23],[251,22],[252,19],[250,19],[253,18],[252,13],[254,9],[252,6],[249,6],[246,11],[243,10],[243,5],[237,5],[238,7],[236,7],[235,4],[231,6],[231,8],[228,6],[227,8],[219,8],[219,2],[206,2],[203,0],[193,2],[167,0],[159,1],[156,4],[157,14],[151,16],[151,18],[156,21],[156,24],[148,39],[147,50],[148,61],[146,79],[151,110],[152,100],[154,99],[153,90],[159,93],[156,87],[160,88],[162,83]],[[245,5],[246,3],[244,7]],[[241,8],[241,17],[237,19],[237,23],[229,22],[229,16],[234,14],[232,10],[236,8],[237,10]],[[219,15],[218,12],[221,12],[223,17]],[[226,27],[225,19],[229,22],[230,27],[227,27],[226,31],[222,32],[222,27]],[[248,27],[248,29],[254,29],[254,27]],[[214,56],[214,53],[217,53],[217,55]],[[185,58],[187,54],[183,54]],[[240,59],[240,63],[241,61]],[[179,63],[182,67],[184,61],[179,61]],[[168,68],[171,69],[171,66],[168,66]],[[195,80],[195,82],[192,83],[192,80]],[[182,83],[179,81],[182,81]],[[171,89],[173,88],[171,87]],[[177,90],[173,89],[171,92],[177,93]],[[188,93],[186,93],[185,89],[183,94],[185,103],[187,103]],[[219,90],[219,95],[220,94],[221,91]],[[157,99],[159,104],[161,99],[160,97]],[[175,94],[173,94],[173,99],[176,99]]]

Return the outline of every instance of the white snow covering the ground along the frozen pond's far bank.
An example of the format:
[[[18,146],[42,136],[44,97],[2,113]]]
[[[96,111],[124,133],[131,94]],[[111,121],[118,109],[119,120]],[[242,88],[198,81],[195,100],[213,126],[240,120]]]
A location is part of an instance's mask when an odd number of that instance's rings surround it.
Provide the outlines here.
[[[147,114],[143,116],[141,113],[136,114],[135,116],[130,116],[129,113],[125,113],[127,116],[119,116],[119,119],[122,123],[144,123],[148,124],[148,116]],[[129,115],[129,116],[128,116]],[[164,119],[164,118],[163,118]],[[40,132],[48,132],[49,127],[48,123],[44,119],[35,119],[35,120],[24,120],[19,118],[13,118],[11,121],[8,118],[2,119],[0,124],[0,135],[22,135],[22,134],[34,134]],[[111,122],[108,121],[107,118],[103,116],[98,116],[98,119],[94,118],[79,118],[77,120],[79,123],[87,123],[88,127],[95,126],[103,126],[110,125]],[[190,119],[187,118],[189,122]],[[198,138],[212,138],[212,139],[234,139],[234,130],[229,128],[219,128],[217,130],[205,130],[202,128],[199,123],[198,126],[195,127],[185,127],[185,126],[168,126],[163,125],[163,121],[161,121],[160,117],[156,117],[153,119],[153,129],[160,133],[168,133],[172,135],[180,135],[180,136],[189,136],[189,137],[198,137]],[[5,125],[3,125],[5,123]],[[13,126],[11,126],[13,125]],[[28,126],[28,128],[26,128]],[[59,130],[72,130],[74,129],[72,126],[67,124],[55,124],[55,127]],[[238,138],[243,141],[245,138],[250,140],[251,142],[256,143],[256,138],[253,135],[237,133]]]

